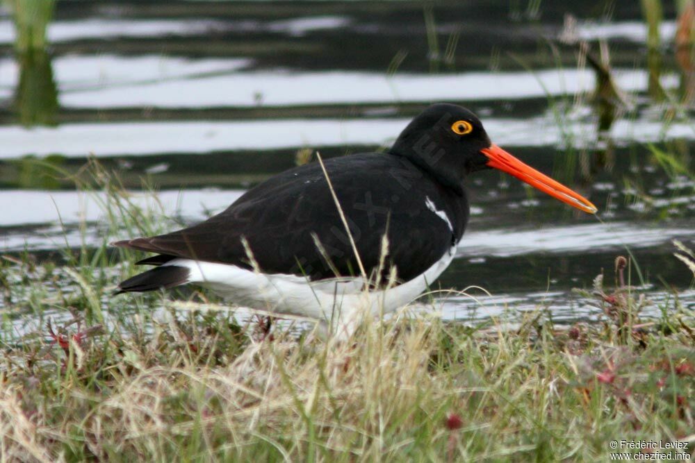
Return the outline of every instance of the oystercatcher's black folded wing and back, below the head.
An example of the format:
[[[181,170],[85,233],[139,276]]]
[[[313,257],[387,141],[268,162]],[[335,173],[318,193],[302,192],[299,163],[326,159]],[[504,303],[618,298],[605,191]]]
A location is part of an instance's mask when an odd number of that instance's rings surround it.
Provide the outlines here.
[[[389,238],[386,267],[410,280],[439,260],[464,233],[465,196],[445,190],[409,161],[362,154],[325,161],[338,201],[367,273],[379,266],[382,237]],[[430,199],[450,224],[425,203]],[[265,273],[293,273],[312,280],[359,275],[350,239],[318,163],[274,176],[220,214],[166,235],[115,243],[172,258],[252,267],[243,244]],[[317,246],[317,241],[320,246]]]

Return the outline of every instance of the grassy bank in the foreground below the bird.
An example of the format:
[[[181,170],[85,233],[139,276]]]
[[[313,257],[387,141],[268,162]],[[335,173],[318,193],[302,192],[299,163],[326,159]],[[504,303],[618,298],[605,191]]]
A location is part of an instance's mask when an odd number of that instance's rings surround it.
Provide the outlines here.
[[[404,311],[349,342],[268,335],[198,292],[113,298],[134,255],[108,241],[167,224],[90,172],[81,188],[108,192],[101,246],[0,269],[3,461],[603,461],[612,439],[681,439],[692,455],[692,313],[674,294],[641,317],[627,261],[580,294],[600,323]]]

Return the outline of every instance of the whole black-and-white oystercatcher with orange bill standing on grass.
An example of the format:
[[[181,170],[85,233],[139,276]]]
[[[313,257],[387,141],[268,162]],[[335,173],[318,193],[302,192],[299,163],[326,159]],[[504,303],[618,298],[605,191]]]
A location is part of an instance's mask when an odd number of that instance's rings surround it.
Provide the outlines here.
[[[594,214],[568,187],[493,144],[478,117],[435,103],[390,149],[311,162],[252,187],[199,224],[114,246],[155,253],[117,293],[194,283],[237,305],[318,320],[349,336],[359,317],[392,312],[455,257],[469,174],[498,169]],[[464,240],[465,241],[465,240]]]

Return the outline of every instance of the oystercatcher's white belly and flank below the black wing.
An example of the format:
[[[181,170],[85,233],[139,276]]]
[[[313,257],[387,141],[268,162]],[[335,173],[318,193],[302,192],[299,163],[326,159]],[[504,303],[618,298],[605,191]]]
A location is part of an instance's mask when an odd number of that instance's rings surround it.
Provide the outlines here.
[[[187,283],[199,283],[238,305],[333,322],[343,334],[349,334],[363,311],[376,316],[413,301],[449,266],[455,251],[453,246],[412,280],[373,291],[364,289],[361,277],[312,282],[301,276],[257,273],[235,265],[190,259],[174,259],[165,265],[188,268]]]

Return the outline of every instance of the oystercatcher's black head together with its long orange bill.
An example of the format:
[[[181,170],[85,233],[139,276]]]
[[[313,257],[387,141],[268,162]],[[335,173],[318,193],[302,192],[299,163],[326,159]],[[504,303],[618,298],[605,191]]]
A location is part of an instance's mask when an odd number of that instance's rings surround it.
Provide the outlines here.
[[[493,144],[480,119],[461,106],[448,103],[430,106],[404,128],[390,152],[409,158],[457,192],[462,192],[462,182],[468,174],[492,168],[584,212],[594,214],[597,210],[580,194]]]

